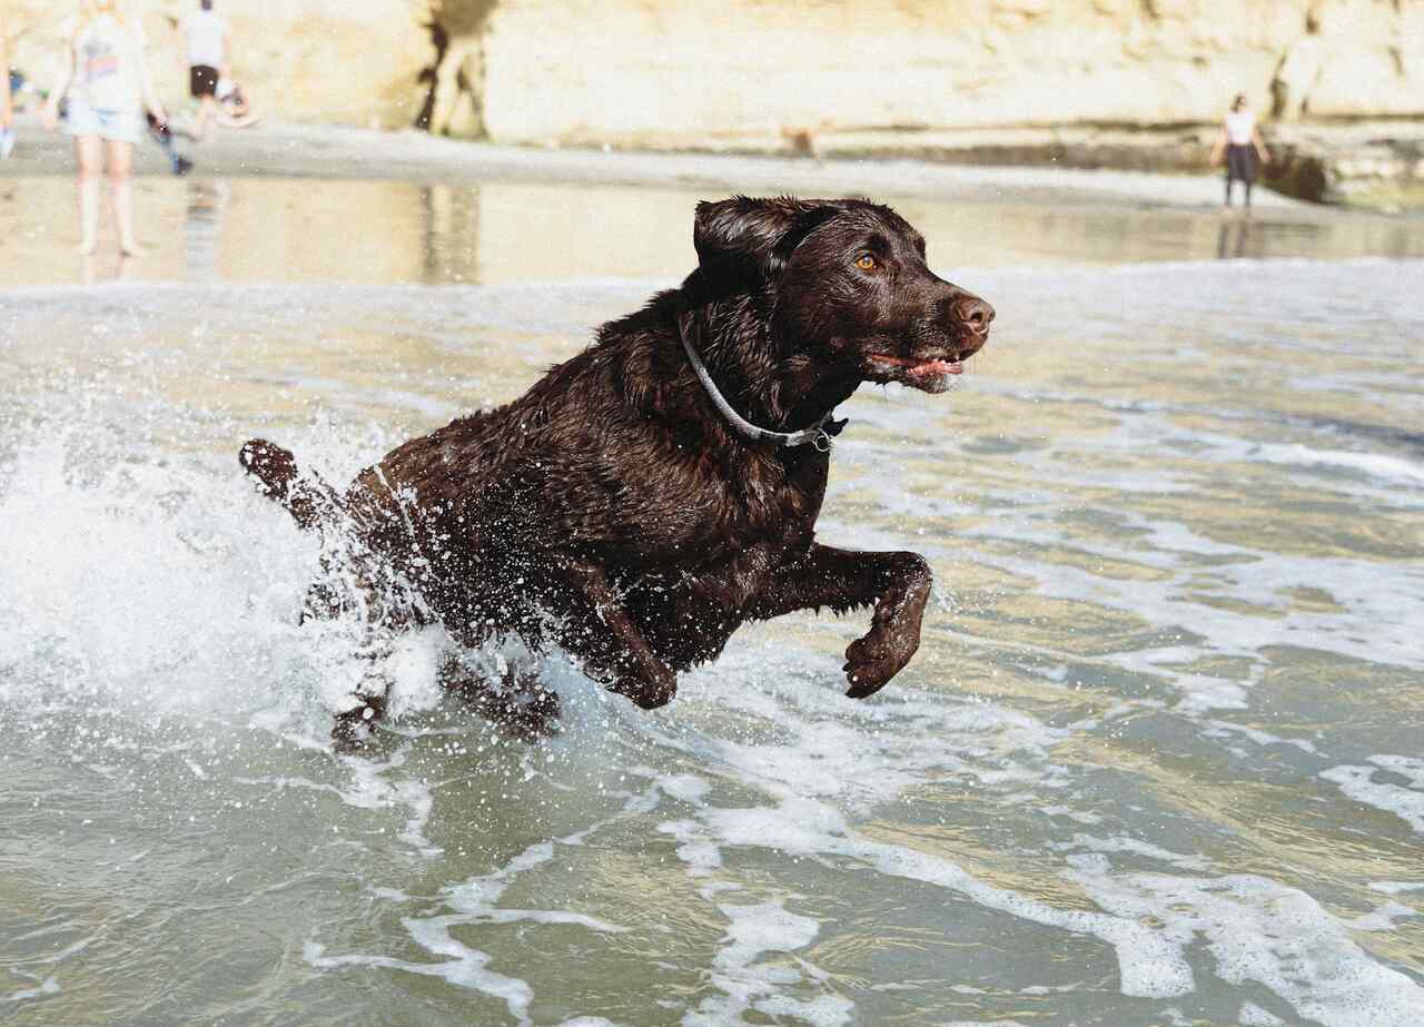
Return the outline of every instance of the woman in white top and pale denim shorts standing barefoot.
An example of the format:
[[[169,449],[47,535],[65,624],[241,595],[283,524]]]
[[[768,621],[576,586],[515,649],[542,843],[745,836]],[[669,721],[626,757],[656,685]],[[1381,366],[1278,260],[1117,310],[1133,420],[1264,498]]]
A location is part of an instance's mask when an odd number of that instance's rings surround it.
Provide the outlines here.
[[[134,239],[134,144],[144,131],[142,108],[159,125],[168,122],[144,64],[144,30],[124,17],[118,0],[83,0],[66,23],[64,71],[44,105],[44,121],[58,124],[60,100],[68,97],[67,131],[78,160],[81,254],[93,254],[98,235],[98,177],[108,158],[118,246],[130,256]]]

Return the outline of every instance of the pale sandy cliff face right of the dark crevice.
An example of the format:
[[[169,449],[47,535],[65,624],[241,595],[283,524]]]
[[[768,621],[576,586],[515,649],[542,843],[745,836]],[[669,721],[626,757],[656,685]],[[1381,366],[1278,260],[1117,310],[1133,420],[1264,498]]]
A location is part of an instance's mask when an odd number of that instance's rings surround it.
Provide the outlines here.
[[[508,141],[1424,114],[1424,0],[508,0],[481,56]]]

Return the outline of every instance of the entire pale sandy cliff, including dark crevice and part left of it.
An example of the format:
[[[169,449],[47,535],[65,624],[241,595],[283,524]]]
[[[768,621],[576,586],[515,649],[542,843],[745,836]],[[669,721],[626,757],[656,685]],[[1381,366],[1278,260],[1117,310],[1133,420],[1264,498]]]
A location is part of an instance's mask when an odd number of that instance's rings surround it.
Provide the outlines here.
[[[142,10],[165,95],[178,19]],[[238,77],[282,117],[510,142],[1424,115],[1424,0],[218,0]],[[53,74],[68,0],[11,0]],[[423,78],[424,75],[424,78]],[[434,88],[431,91],[431,83]]]

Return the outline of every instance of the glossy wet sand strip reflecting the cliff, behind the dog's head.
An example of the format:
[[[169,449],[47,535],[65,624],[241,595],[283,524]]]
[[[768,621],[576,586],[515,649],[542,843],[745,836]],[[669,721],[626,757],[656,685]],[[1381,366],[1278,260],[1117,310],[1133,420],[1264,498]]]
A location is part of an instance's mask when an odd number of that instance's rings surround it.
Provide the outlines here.
[[[703,192],[615,185],[142,178],[144,281],[486,283],[674,279],[693,264]],[[4,199],[9,197],[9,199]],[[23,202],[21,202],[23,198]],[[930,239],[937,268],[1424,256],[1424,224],[1377,217],[947,204],[879,197]],[[0,182],[11,283],[81,281],[64,258],[73,182]],[[105,228],[107,231],[107,228]],[[101,249],[112,241],[101,236]],[[98,281],[118,269],[95,264]]]

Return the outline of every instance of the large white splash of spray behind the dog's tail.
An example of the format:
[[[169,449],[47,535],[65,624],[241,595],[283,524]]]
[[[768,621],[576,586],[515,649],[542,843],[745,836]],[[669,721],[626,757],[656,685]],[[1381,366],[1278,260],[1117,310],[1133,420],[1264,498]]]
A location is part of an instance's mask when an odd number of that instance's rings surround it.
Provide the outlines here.
[[[14,671],[0,698],[290,714],[290,668],[329,655],[296,630],[315,550],[239,489],[215,503],[198,467],[91,473],[44,443],[17,454],[0,494],[0,665]],[[181,688],[167,684],[177,668]]]

